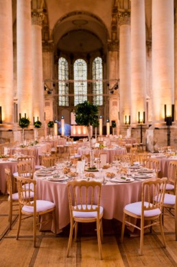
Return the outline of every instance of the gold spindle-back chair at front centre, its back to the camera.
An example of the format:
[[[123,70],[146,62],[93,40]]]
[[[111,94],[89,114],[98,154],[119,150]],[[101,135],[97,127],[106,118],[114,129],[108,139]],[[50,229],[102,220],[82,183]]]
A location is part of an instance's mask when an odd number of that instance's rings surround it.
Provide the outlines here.
[[[75,229],[75,241],[78,233],[78,222],[88,223],[96,222],[97,242],[99,248],[99,257],[102,259],[102,217],[103,207],[100,206],[102,184],[95,181],[71,181],[67,183],[70,211],[70,233],[67,248],[67,257]],[[89,192],[89,193],[88,193]]]

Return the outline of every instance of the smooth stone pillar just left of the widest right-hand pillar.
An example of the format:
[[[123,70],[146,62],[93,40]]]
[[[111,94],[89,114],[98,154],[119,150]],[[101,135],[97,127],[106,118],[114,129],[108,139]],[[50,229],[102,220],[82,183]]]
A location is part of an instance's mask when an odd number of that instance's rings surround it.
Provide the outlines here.
[[[145,2],[131,1],[131,122],[137,124],[138,113],[145,111]]]

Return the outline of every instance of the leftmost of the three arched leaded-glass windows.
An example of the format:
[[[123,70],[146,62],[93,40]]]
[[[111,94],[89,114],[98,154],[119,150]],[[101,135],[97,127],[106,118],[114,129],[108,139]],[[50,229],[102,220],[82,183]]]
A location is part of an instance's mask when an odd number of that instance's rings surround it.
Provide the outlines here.
[[[69,84],[66,83],[69,80],[69,67],[67,59],[62,57],[58,61],[58,80],[59,106],[69,107]]]

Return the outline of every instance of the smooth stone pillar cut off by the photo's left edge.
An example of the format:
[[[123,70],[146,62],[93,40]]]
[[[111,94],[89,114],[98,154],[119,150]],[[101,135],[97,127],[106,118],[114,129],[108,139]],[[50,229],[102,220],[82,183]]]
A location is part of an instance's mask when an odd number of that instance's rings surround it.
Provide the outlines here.
[[[0,106],[3,124],[13,122],[12,1],[0,0]]]

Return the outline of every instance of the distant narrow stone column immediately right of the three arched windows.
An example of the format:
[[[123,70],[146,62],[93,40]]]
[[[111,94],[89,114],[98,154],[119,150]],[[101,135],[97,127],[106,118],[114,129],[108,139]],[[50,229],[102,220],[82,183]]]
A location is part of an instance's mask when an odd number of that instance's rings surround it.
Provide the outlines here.
[[[113,88],[119,78],[119,44],[117,42],[111,42],[108,45],[108,64],[109,64],[109,88]],[[109,120],[115,120],[117,125],[117,133],[119,133],[119,94],[118,89],[113,90],[113,94],[110,91],[109,96]]]

